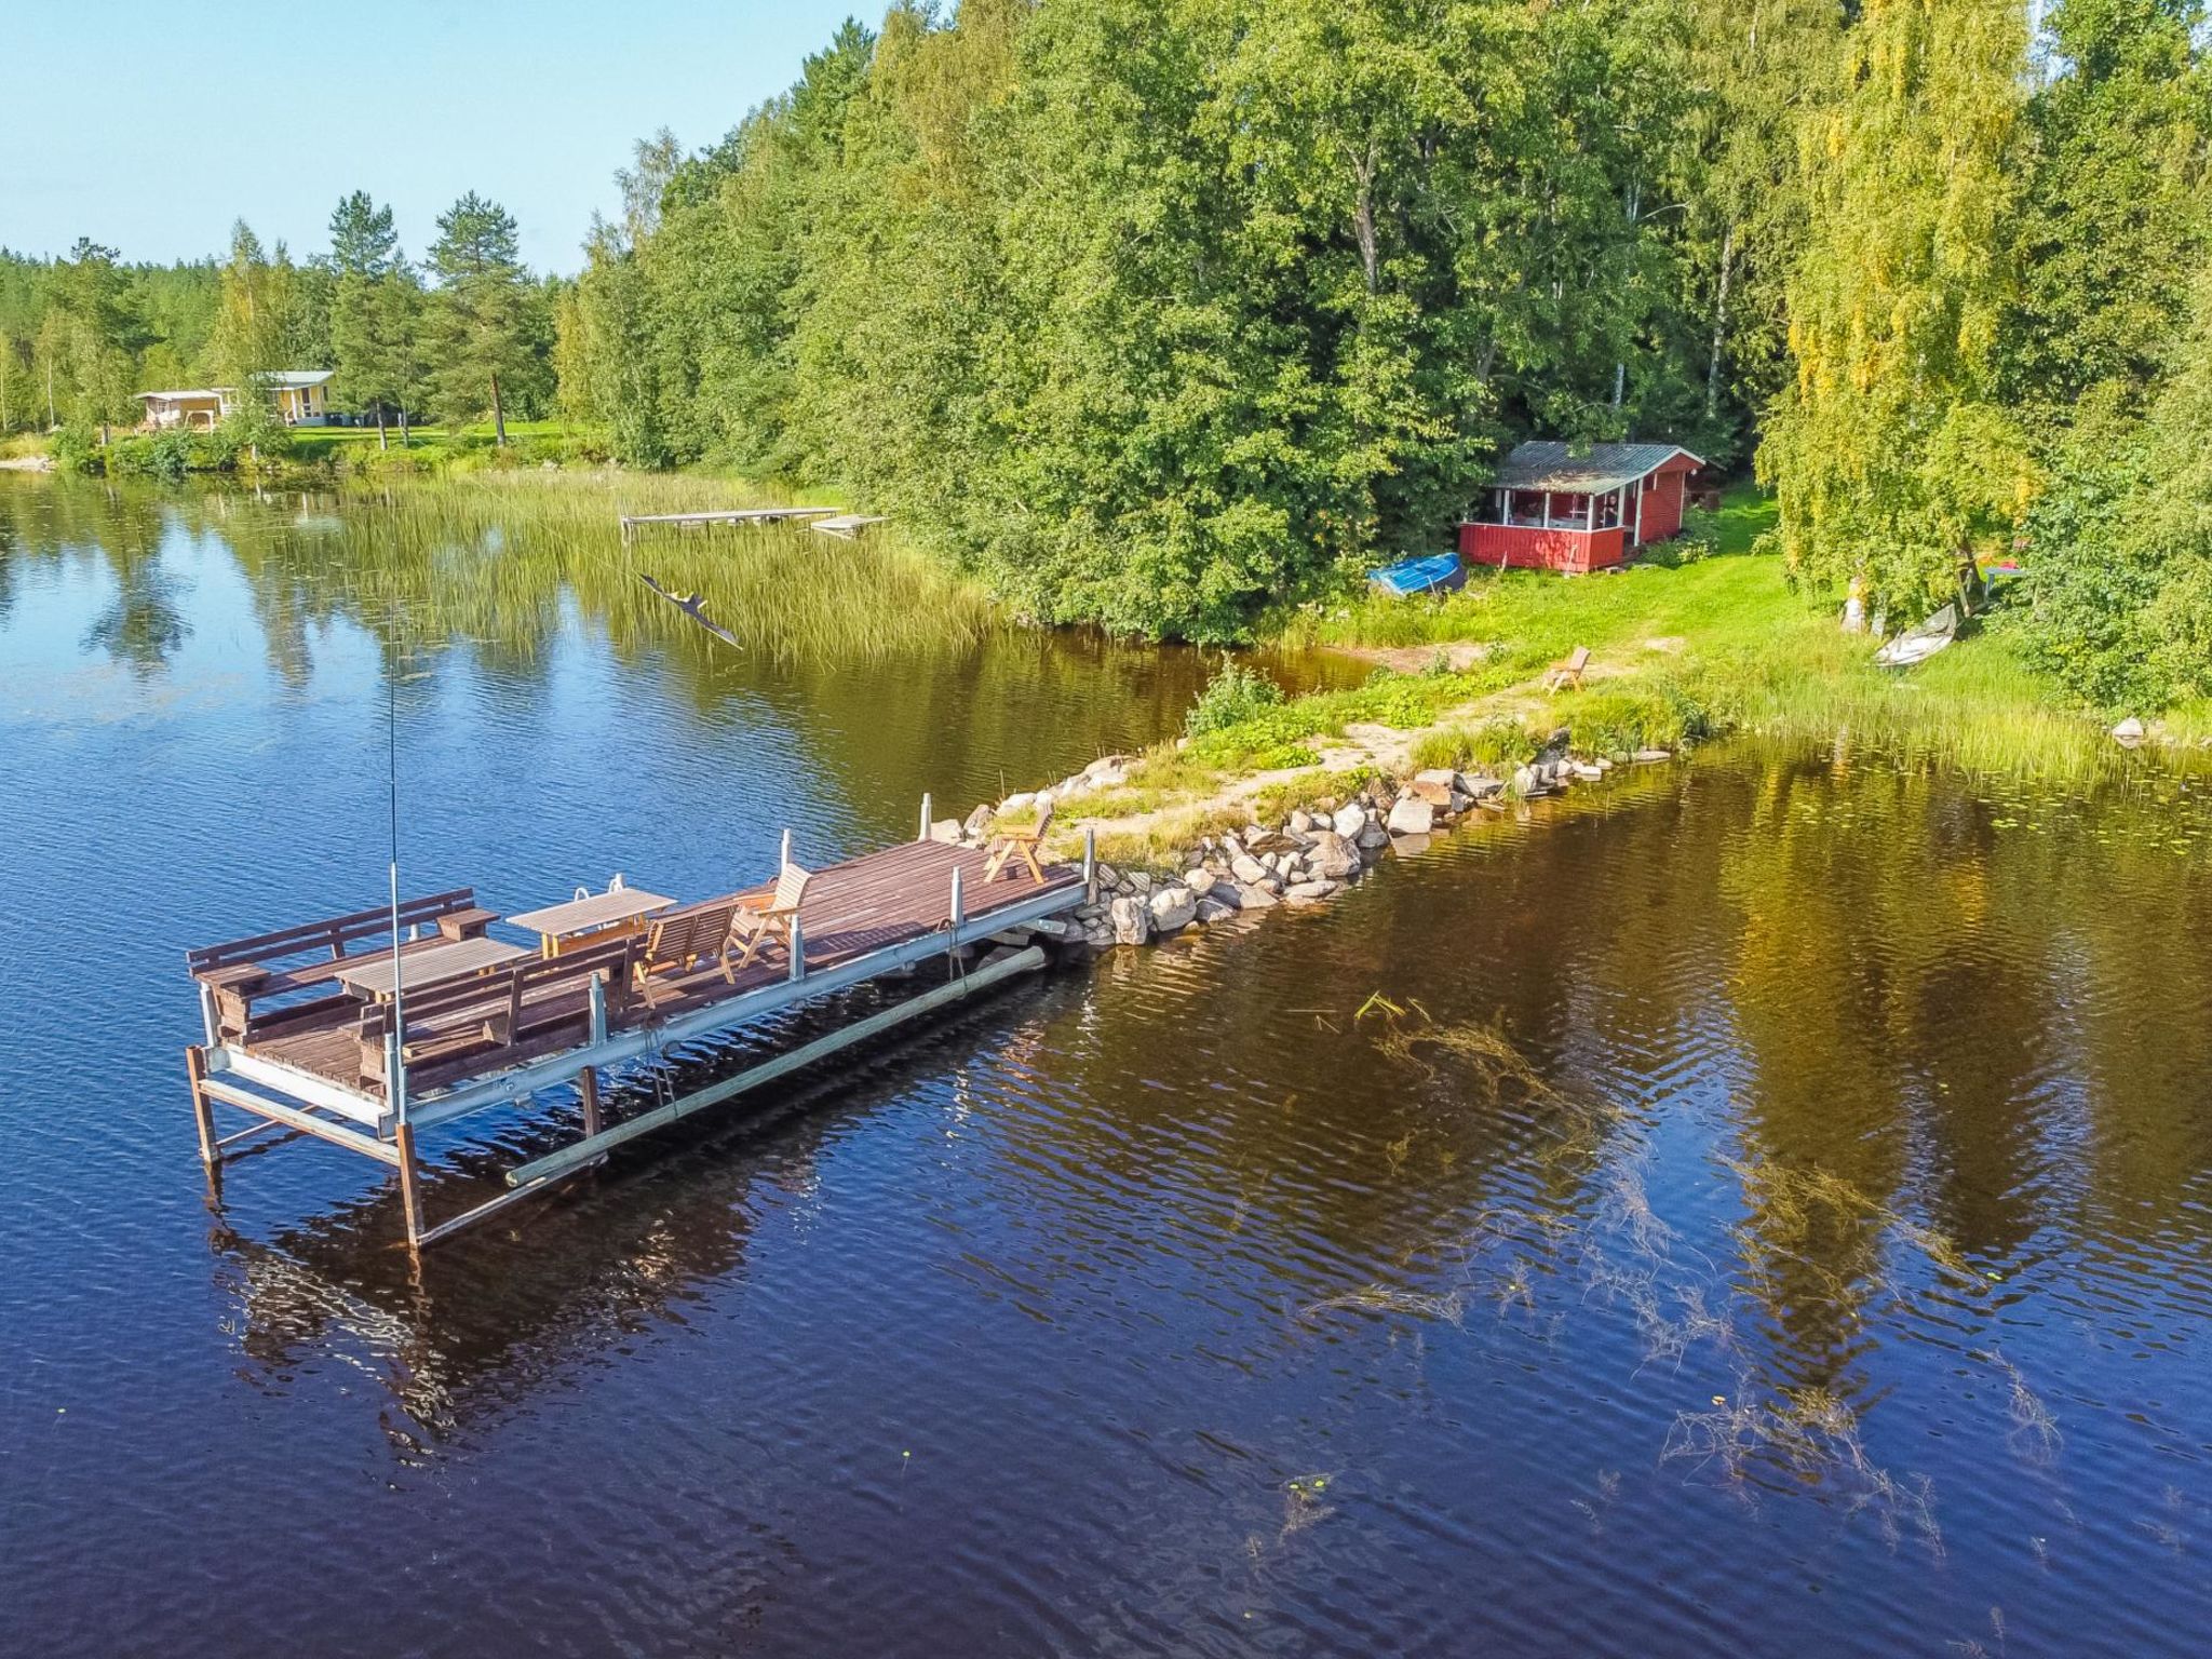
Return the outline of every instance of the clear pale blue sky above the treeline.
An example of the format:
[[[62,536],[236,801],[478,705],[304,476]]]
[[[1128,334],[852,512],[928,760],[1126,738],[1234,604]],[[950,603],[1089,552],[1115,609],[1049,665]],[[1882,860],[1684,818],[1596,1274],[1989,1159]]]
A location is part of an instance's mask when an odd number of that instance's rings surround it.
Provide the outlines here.
[[[854,0],[15,0],[4,27],[0,246],[80,234],[126,259],[228,246],[243,217],[294,257],[367,190],[420,257],[462,190],[502,201],[540,270],[573,272],[613,173],[659,126],[721,137],[799,77]],[[29,155],[22,139],[29,135]]]

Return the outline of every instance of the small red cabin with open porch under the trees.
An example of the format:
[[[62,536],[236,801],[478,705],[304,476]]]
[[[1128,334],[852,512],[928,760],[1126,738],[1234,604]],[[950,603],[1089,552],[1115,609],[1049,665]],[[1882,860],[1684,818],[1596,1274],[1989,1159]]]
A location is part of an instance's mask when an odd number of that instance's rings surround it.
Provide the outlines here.
[[[1606,571],[1681,531],[1690,473],[1674,445],[1520,445],[1489,502],[1460,524],[1460,557],[1526,571]]]

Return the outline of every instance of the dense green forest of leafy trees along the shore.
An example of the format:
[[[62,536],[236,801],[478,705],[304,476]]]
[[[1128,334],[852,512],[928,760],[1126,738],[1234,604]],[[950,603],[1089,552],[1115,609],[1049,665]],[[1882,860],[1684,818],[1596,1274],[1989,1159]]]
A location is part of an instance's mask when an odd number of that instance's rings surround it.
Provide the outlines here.
[[[502,279],[549,321],[268,270],[411,365],[356,400],[551,372],[626,465],[841,487],[1040,619],[1241,637],[1522,436],[1668,438],[1809,599],[2013,546],[2042,661],[2159,703],[2212,692],[2208,93],[2199,0],[900,4],[639,144],[575,283]],[[128,272],[139,363],[237,361],[239,265]],[[82,268],[0,268],[0,420]]]

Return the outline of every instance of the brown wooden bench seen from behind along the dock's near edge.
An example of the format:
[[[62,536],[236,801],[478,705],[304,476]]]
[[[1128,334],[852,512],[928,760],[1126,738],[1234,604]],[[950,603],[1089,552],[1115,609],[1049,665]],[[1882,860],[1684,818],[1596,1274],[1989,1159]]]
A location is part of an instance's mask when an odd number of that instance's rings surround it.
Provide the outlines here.
[[[633,1006],[633,973],[641,951],[635,933],[586,945],[555,958],[531,958],[471,980],[451,980],[405,1000],[407,1084],[438,1088],[453,1077],[500,1071],[591,1040],[591,982],[602,982],[606,1022]],[[387,1084],[394,1009],[361,1011],[361,1079]]]

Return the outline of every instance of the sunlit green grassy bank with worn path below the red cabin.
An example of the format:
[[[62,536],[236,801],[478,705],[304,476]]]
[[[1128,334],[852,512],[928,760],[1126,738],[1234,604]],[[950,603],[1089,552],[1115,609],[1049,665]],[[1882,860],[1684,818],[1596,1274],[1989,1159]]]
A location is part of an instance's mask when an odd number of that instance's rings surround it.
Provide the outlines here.
[[[1146,754],[1128,783],[1086,799],[1110,856],[1170,858],[1201,834],[1270,823],[1349,794],[1365,776],[1455,765],[1506,774],[1566,734],[1584,757],[1677,750],[1730,732],[1798,737],[1989,776],[2090,781],[2128,763],[2112,710],[2073,706],[2015,646],[2004,606],[1911,670],[1874,666],[1874,641],[1796,593],[1756,553],[1772,502],[1732,491],[1701,544],[1619,575],[1473,573],[1442,599],[1358,599],[1279,619],[1292,646],[1356,650],[1376,675],[1201,717]],[[1557,695],[1548,664],[1590,648],[1588,679]],[[2154,721],[2163,759],[2212,737],[2203,708]]]

